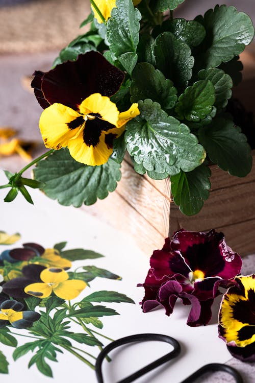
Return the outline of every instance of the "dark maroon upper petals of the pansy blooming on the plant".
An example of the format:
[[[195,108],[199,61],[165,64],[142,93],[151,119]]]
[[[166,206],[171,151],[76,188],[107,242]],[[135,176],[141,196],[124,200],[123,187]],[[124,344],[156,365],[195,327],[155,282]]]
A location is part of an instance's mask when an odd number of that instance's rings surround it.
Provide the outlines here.
[[[124,80],[120,69],[94,51],[79,55],[76,61],[59,64],[46,73],[36,70],[34,76],[31,86],[43,109],[60,103],[78,110],[78,105],[93,93],[111,97]]]

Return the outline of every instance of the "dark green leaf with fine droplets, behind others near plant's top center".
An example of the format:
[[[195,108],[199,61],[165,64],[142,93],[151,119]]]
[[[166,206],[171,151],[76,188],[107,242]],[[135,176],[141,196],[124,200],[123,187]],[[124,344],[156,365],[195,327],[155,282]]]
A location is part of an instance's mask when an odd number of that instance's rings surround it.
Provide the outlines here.
[[[152,32],[155,38],[163,32],[171,32],[177,40],[183,41],[189,46],[199,45],[206,36],[205,28],[197,21],[187,21],[184,18],[163,21],[161,26],[156,26]]]

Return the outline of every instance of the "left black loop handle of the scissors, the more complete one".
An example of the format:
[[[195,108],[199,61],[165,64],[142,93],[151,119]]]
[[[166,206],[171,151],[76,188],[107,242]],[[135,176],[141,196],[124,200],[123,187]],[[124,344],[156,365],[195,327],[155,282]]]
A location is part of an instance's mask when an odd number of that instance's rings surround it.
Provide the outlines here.
[[[140,376],[146,374],[147,372],[154,370],[155,368],[161,366],[162,364],[170,361],[171,359],[178,356],[181,352],[181,346],[174,338],[168,337],[167,335],[162,334],[136,334],[129,337],[120,338],[117,341],[110,343],[106,346],[98,355],[96,364],[95,364],[95,373],[98,383],[104,383],[101,366],[106,355],[112,351],[114,348],[123,346],[128,343],[133,342],[145,342],[145,341],[159,341],[166,342],[173,346],[173,350],[168,354],[160,357],[156,361],[148,364],[147,366],[141,368],[140,370],[134,372],[133,374],[127,376],[126,378],[120,380],[118,383],[130,383],[135,379],[138,379]]]

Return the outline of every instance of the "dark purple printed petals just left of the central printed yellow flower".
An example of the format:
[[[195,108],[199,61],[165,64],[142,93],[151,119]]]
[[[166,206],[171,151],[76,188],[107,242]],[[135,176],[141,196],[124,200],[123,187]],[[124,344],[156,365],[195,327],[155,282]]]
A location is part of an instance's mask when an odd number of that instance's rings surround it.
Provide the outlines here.
[[[46,269],[41,265],[24,266],[22,273],[24,277],[13,278],[3,284],[3,292],[14,298],[29,298],[31,295],[24,292],[24,288],[29,284],[41,282],[40,274]]]

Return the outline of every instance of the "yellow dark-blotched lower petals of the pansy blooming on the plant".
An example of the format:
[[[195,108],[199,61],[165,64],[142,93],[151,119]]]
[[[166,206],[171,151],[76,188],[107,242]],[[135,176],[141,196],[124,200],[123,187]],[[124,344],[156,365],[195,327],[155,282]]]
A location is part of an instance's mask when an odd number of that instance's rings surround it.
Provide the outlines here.
[[[47,148],[67,147],[76,161],[95,166],[108,161],[113,139],[138,114],[138,104],[120,113],[109,97],[93,93],[78,106],[78,111],[59,103],[50,105],[42,112],[39,126]]]

